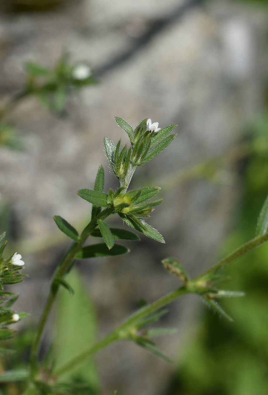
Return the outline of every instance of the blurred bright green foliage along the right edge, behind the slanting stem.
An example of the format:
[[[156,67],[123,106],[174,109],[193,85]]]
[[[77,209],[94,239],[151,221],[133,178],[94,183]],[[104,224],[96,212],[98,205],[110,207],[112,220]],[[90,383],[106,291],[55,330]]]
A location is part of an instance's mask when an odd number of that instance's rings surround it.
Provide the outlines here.
[[[254,125],[251,157],[243,163],[243,196],[236,229],[221,255],[255,235],[256,218],[268,193],[267,116]],[[234,317],[230,324],[204,311],[195,339],[185,350],[169,395],[263,395],[268,389],[268,245],[231,265],[225,273],[231,289],[243,299],[223,307]],[[225,284],[223,284],[225,286]]]

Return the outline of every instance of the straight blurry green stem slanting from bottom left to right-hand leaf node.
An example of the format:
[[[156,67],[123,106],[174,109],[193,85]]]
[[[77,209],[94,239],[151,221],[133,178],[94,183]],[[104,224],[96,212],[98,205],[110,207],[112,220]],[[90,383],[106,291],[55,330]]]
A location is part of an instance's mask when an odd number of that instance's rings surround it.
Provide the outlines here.
[[[147,305],[145,307],[140,308],[134,314],[132,314],[123,324],[119,325],[116,329],[112,332],[108,333],[103,339],[99,340],[93,346],[82,352],[81,354],[77,355],[75,358],[71,359],[57,371],[55,371],[55,376],[60,376],[61,374],[71,370],[74,366],[79,365],[85,359],[90,357],[93,354],[96,354],[103,348],[107,347],[109,344],[116,340],[126,339],[126,331],[129,328],[136,324],[138,321],[142,320],[143,318],[147,317],[149,314],[159,310],[161,307],[168,305],[169,303],[173,302],[175,299],[184,295],[185,293],[189,293],[190,291],[185,287],[182,286],[181,288],[177,289],[176,291],[170,292],[167,295],[164,295],[157,301]]]

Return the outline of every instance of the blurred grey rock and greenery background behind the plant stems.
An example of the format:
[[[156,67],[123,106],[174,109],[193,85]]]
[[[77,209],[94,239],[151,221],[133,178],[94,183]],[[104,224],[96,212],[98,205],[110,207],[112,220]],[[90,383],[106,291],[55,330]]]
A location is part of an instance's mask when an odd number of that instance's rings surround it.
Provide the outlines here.
[[[31,314],[13,341],[19,355],[4,368],[27,359],[49,279],[69,245],[52,216],[83,228],[90,206],[75,192],[92,188],[100,163],[106,188],[118,185],[103,152],[105,136],[126,141],[113,115],[132,126],[147,117],[160,127],[178,124],[172,145],[138,169],[131,186],[162,187],[164,203],[149,223],[166,244],[142,236],[128,244],[128,255],[78,263],[70,279],[77,292],[60,293],[42,354],[55,339],[60,365],[141,299],[174,290],[177,280],[160,263],[166,256],[197,275],[254,237],[268,192],[267,6],[254,0],[1,2],[0,231],[7,231],[10,253],[26,262],[17,309]],[[173,364],[117,343],[72,377],[88,380],[93,395],[267,393],[268,247],[226,274],[227,289],[246,292],[223,302],[233,324],[187,295],[160,322],[178,329],[158,342]]]

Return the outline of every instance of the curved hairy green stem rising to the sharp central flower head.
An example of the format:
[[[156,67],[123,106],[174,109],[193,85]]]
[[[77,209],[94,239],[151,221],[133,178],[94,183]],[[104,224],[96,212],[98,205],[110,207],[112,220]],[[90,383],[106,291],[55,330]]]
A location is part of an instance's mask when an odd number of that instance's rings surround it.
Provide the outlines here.
[[[36,334],[34,337],[34,341],[32,344],[32,349],[31,349],[31,354],[30,354],[30,369],[31,369],[31,376],[34,377],[35,375],[35,370],[36,370],[36,360],[37,360],[37,354],[38,354],[38,349],[40,345],[40,341],[42,338],[42,333],[45,327],[45,324],[47,322],[47,318],[49,316],[49,313],[51,311],[51,307],[55,301],[55,297],[58,293],[59,290],[59,283],[55,282],[55,279],[57,277],[63,277],[68,269],[71,267],[76,254],[79,252],[80,248],[83,246],[91,232],[96,228],[97,222],[96,220],[99,218],[107,218],[110,214],[112,213],[112,209],[105,209],[103,210],[98,216],[94,217],[91,219],[91,222],[85,227],[83,232],[81,233],[81,236],[79,238],[79,241],[76,243],[73,243],[71,246],[70,250],[67,252],[66,256],[63,258],[62,262],[60,265],[57,267],[55,270],[55,273],[53,275],[53,279],[51,282],[51,287],[50,287],[50,292],[47,297],[47,301],[45,304],[45,307],[42,312],[42,316],[40,318],[40,321],[38,323],[37,329],[36,329]]]

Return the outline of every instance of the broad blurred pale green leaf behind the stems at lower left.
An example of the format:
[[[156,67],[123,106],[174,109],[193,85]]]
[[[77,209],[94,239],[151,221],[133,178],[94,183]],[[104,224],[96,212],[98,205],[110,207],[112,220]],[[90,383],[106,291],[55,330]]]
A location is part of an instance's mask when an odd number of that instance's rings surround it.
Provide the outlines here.
[[[55,315],[55,341],[54,352],[55,369],[70,361],[70,359],[81,354],[86,347],[90,347],[97,340],[96,312],[94,304],[86,290],[81,275],[74,268],[66,276],[66,281],[75,290],[73,297],[66,297],[66,292],[59,292],[57,297]],[[74,369],[62,374],[57,384],[66,381],[87,383],[91,386],[91,391],[87,394],[98,393],[99,377],[96,364],[93,359],[88,358],[82,365],[75,366]],[[70,388],[69,388],[70,389]],[[79,394],[79,391],[71,392]]]

